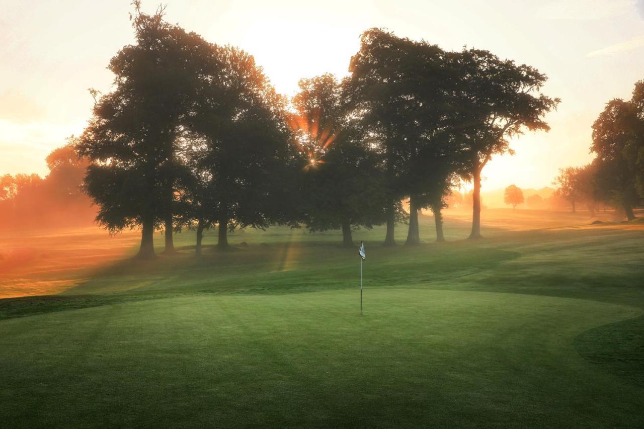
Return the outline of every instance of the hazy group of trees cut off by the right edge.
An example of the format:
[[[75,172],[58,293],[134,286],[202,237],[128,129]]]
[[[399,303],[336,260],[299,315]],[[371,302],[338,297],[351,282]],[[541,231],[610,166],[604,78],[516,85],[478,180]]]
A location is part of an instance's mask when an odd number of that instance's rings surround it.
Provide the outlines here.
[[[592,124],[591,153],[583,167],[566,167],[554,181],[558,195],[586,204],[591,216],[596,205],[620,208],[634,220],[634,207],[644,201],[644,81],[638,81],[630,100],[612,99]]]

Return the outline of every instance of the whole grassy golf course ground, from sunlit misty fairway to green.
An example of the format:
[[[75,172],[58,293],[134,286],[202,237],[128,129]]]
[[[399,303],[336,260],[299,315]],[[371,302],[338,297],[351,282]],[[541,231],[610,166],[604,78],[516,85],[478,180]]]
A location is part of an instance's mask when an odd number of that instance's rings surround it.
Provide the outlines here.
[[[421,245],[355,231],[363,315],[341,231],[209,231],[200,257],[182,231],[143,261],[136,232],[3,233],[2,425],[641,427],[641,218],[489,209],[466,240],[468,214],[444,243],[431,214]]]

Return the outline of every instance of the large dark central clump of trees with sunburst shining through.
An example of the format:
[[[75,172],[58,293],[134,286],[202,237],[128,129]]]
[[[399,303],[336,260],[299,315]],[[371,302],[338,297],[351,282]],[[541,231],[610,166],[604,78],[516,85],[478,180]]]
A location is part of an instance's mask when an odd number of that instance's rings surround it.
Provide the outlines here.
[[[249,53],[220,46],[144,14],[135,2],[135,43],[109,62],[113,90],[93,91],[88,127],[75,139],[90,161],[84,189],[111,232],[140,227],[140,256],[153,233],[218,229],[228,246],[236,227],[305,225],[341,229],[408,224],[441,209],[459,180],[473,182],[470,238],[480,237],[481,175],[509,138],[549,127],[559,99],[541,92],[546,76],[486,50],[449,52],[372,28],[361,35],[349,75],[299,82],[279,95]],[[401,203],[409,198],[406,213]]]

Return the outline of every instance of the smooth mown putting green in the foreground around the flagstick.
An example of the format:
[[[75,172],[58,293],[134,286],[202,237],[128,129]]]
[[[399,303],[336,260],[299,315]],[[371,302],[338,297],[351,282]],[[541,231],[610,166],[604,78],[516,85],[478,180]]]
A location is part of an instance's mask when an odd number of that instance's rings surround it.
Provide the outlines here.
[[[641,310],[498,292],[191,295],[0,321],[12,426],[636,427],[574,338]],[[484,422],[484,423],[483,423]]]

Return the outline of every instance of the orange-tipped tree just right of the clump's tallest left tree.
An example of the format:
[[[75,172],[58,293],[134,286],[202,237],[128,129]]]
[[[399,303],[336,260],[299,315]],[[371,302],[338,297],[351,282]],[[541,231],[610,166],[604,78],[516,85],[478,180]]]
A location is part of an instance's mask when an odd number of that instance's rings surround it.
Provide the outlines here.
[[[209,49],[216,61],[188,122],[202,144],[191,158],[198,184],[191,193],[202,221],[218,225],[218,247],[227,249],[227,232],[236,227],[292,222],[302,160],[292,142],[285,99],[252,55],[232,46]]]

